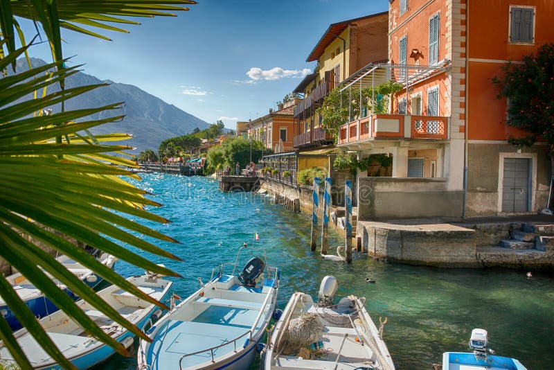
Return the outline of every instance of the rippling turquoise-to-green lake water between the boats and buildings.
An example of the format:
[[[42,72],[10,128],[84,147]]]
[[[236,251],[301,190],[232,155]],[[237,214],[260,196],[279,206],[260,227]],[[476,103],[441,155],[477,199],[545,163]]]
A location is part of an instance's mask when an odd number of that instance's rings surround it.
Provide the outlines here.
[[[181,297],[197,290],[198,277],[207,281],[213,267],[234,261],[244,241],[265,249],[269,265],[282,270],[278,304],[284,308],[295,291],[317,294],[321,278],[339,279],[337,297],[367,298],[366,308],[379,326],[388,318],[384,339],[396,368],[431,369],[445,351],[466,351],[473,328],[489,332],[490,348],[518,358],[528,369],[554,369],[554,276],[526,272],[441,270],[377,263],[355,256],[352,265],[324,261],[310,252],[310,220],[273,204],[270,197],[221,193],[217,181],[204,177],[143,176],[136,185],[164,204],[152,212],[169,218],[161,225],[145,222],[181,241],[160,243],[184,261],[164,263],[179,272],[173,290]],[[336,234],[330,246],[343,244]],[[334,247],[330,247],[334,249]],[[141,273],[118,262],[124,276]],[[375,283],[366,283],[366,277]],[[99,369],[135,369],[134,358],[116,356]],[[256,364],[252,369],[256,368]]]

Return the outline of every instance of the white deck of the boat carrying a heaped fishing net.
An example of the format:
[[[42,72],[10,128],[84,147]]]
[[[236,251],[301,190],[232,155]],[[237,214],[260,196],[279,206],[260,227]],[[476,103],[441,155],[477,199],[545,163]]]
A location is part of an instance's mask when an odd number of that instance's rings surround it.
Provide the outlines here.
[[[337,353],[341,348],[344,335],[348,334],[341,349],[338,367],[335,368]],[[304,359],[298,355],[280,355],[276,358],[276,365],[280,369],[342,369],[352,370],[359,367],[367,367],[373,362],[366,359],[372,357],[368,345],[362,345],[358,340],[354,328],[338,328],[325,326],[323,328],[323,349],[322,355],[314,360]]]

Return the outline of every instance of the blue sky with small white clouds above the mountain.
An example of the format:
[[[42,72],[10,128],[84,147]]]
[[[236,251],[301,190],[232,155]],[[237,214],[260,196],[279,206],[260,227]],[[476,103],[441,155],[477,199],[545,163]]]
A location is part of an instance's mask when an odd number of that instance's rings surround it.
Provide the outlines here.
[[[330,24],[388,10],[388,0],[197,1],[177,17],[125,25],[128,34],[105,32],[111,42],[62,30],[64,56],[234,129],[275,108],[314,69],[305,60]],[[35,33],[24,29],[28,39]],[[46,46],[31,54],[51,60]]]

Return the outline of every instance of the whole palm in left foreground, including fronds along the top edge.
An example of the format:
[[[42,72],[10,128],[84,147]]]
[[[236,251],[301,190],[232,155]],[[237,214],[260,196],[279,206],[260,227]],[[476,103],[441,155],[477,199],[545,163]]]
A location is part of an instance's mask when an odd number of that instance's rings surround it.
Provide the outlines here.
[[[130,136],[111,134],[95,137],[89,132],[91,127],[123,118],[116,116],[96,121],[87,118],[91,114],[118,109],[120,103],[114,102],[100,108],[64,110],[64,102],[69,98],[104,84],[71,89],[64,87],[64,80],[76,73],[80,66],[65,67],[60,28],[107,39],[93,29],[124,31],[110,24],[138,24],[129,17],[171,15],[169,11],[188,10],[184,6],[193,3],[195,2],[189,0],[0,0],[0,257],[24,274],[91,335],[122,354],[126,353],[123,346],[98,328],[46,274],[62,281],[75,294],[135,335],[147,340],[148,337],[99,299],[93,290],[37,244],[42,243],[66,254],[110,283],[163,306],[98,263],[83,249],[69,243],[60,234],[113,254],[145,270],[170,276],[179,274],[130,252],[112,240],[120,240],[121,243],[167,258],[179,259],[177,256],[115,227],[114,224],[159,240],[176,243],[177,240],[122,215],[168,222],[143,209],[143,206],[159,204],[144,197],[145,191],[120,178],[133,176],[131,173],[123,170],[123,167],[110,165],[134,166],[134,162],[105,154],[129,149],[127,146],[108,145],[106,142],[129,139]],[[40,24],[50,43],[53,62],[8,76],[4,71],[8,68],[15,69],[17,58],[24,55],[29,61],[28,51],[33,47],[32,42],[31,46],[27,46],[17,17],[33,19]],[[85,29],[84,26],[89,28]],[[16,35],[24,45],[21,48],[16,46]],[[30,62],[28,64],[30,68]],[[36,94],[37,91],[48,91],[48,87],[56,84],[60,85],[60,91],[21,101],[21,98]],[[43,109],[60,103],[62,112],[43,114]],[[17,319],[26,326],[48,355],[62,367],[73,368],[3,276],[0,276],[0,291]],[[0,317],[0,339],[22,369],[32,368],[3,317]]]

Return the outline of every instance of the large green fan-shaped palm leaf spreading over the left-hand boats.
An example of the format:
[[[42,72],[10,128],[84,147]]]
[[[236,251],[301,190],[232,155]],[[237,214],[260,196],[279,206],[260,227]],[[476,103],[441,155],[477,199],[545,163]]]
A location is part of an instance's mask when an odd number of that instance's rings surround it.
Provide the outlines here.
[[[21,55],[21,53],[24,53],[24,49],[17,50],[15,55]],[[0,60],[0,68],[5,68],[11,64],[11,61],[12,58]],[[139,328],[121,317],[114,308],[102,301],[93,290],[66,270],[55,258],[22,236],[24,234],[70,256],[107,281],[158,306],[163,307],[163,304],[141,292],[123,277],[98,263],[84,250],[76,248],[75,245],[58,236],[56,232],[113,254],[145,270],[179,276],[105,238],[108,236],[120,240],[123,245],[133,245],[149,253],[178,259],[152,243],[134,236],[131,232],[170,242],[176,240],[109,211],[114,210],[157,222],[168,222],[142,209],[145,205],[159,205],[145,198],[145,191],[134,188],[117,177],[131,174],[123,168],[109,165],[111,161],[124,164],[128,164],[128,161],[102,154],[128,147],[105,145],[88,134],[75,133],[122,118],[123,116],[100,120],[86,119],[91,114],[116,109],[120,104],[34,116],[37,110],[62,103],[70,97],[84,94],[103,84],[57,91],[33,100],[18,100],[38,89],[45,87],[50,89],[71,73],[75,73],[74,68],[57,69],[62,62],[0,79],[0,85],[3,87],[0,93],[0,188],[3,189],[0,193],[0,245],[2,246],[0,257],[24,274],[87,332],[113,346],[118,352],[125,353],[123,346],[98,328],[48,276],[53,276],[64,283],[72,292],[89,301],[91,305],[135,335],[145,337]],[[48,75],[44,74],[46,72]],[[55,136],[65,136],[66,142],[57,143]],[[128,137],[129,135],[123,134],[102,136],[105,139]],[[127,231],[115,227],[114,224],[124,227]],[[2,297],[10,307],[17,308],[14,312],[29,333],[44,346],[48,355],[62,366],[70,367],[69,362],[55,349],[15,291],[6,281],[1,281],[0,286],[4,285]],[[3,318],[0,321],[0,339],[20,366],[28,367],[28,363],[21,358],[23,353],[17,349],[17,342],[11,333],[6,331],[6,322]],[[145,338],[148,339],[148,337]]]

